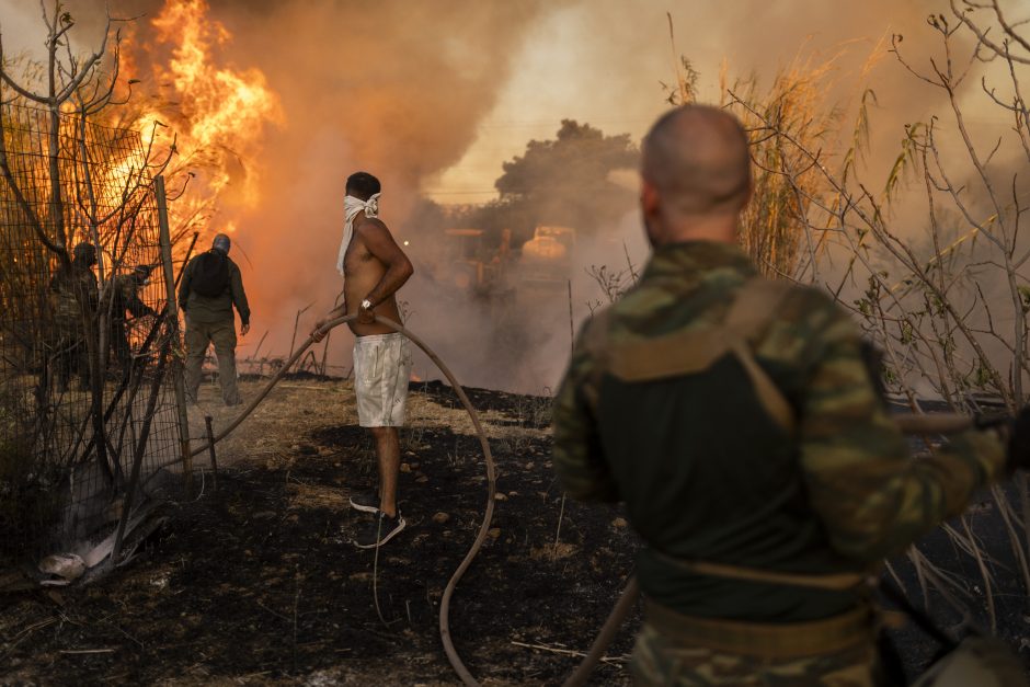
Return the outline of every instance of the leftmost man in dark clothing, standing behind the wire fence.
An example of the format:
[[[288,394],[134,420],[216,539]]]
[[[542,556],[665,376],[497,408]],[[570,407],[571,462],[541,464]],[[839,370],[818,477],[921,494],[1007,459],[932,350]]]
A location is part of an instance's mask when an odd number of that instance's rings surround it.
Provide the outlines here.
[[[90,385],[82,308],[88,309],[90,317],[96,311],[95,264],[96,248],[92,243],[79,243],[72,251],[71,264],[59,267],[50,279],[50,302],[57,328],[54,357],[58,388],[62,391],[68,388],[72,371],[78,374],[81,388]]]

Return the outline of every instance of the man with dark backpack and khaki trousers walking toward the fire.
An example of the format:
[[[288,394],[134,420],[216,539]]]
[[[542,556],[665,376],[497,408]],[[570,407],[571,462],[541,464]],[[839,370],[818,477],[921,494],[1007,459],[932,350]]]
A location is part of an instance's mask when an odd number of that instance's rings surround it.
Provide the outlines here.
[[[250,331],[250,307],[240,268],[229,257],[229,237],[219,233],[211,250],[186,265],[179,288],[179,307],[186,314],[186,398],[196,403],[207,346],[215,345],[218,381],[226,405],[243,402],[236,379],[236,328],[232,307],[240,313],[240,335]]]

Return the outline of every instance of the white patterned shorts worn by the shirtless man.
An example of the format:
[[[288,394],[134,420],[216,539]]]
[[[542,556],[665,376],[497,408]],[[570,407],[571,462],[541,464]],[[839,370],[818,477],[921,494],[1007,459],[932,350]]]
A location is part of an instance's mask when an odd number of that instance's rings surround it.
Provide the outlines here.
[[[411,351],[403,334],[358,336],[354,342],[354,393],[363,427],[404,424]]]

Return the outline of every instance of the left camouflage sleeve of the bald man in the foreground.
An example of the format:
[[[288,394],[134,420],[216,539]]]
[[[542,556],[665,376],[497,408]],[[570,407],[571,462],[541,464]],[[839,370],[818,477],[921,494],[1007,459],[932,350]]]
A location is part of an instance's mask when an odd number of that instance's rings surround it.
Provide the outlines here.
[[[554,472],[565,492],[580,501],[619,501],[602,453],[594,407],[596,362],[584,344],[588,321],[576,337],[569,369],[554,397]]]

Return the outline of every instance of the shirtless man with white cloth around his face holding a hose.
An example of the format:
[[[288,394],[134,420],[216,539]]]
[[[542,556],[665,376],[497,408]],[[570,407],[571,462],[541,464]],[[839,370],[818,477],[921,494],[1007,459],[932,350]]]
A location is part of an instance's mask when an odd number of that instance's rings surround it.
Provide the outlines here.
[[[327,322],[343,314],[356,314],[350,322],[354,332],[354,392],[358,424],[371,430],[379,460],[379,493],[352,492],[351,506],[374,514],[368,529],[358,533],[354,543],[362,549],[381,546],[404,529],[397,508],[397,478],[400,472],[400,442],[397,427],[404,423],[404,401],[411,375],[408,340],[374,320],[379,314],[401,321],[397,289],[414,271],[387,226],[376,218],[379,209],[379,180],[367,172],[347,179],[346,226],[336,268],[343,274],[343,305],[314,323],[311,335]]]

